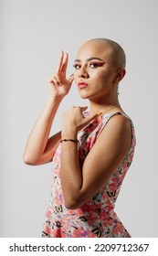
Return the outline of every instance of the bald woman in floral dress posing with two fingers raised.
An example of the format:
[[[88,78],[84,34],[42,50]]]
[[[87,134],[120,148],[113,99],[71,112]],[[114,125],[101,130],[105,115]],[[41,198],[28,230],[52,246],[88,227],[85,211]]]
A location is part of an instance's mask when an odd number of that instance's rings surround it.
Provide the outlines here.
[[[24,152],[28,165],[52,162],[52,187],[43,225],[48,238],[130,238],[114,211],[135,147],[134,127],[123,112],[118,86],[126,71],[121,46],[106,38],[84,43],[67,79],[68,53],[61,51],[48,79],[46,105]],[[72,82],[88,106],[63,112],[61,131],[50,129]],[[68,97],[68,96],[67,96]]]

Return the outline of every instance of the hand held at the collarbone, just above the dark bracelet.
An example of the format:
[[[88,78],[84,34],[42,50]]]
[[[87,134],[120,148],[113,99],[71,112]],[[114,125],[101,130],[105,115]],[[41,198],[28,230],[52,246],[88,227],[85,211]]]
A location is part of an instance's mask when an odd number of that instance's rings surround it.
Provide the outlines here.
[[[88,107],[71,107],[62,114],[62,135],[73,139],[79,130],[90,123],[98,113],[90,114],[88,117],[84,117],[83,112]],[[71,137],[70,137],[71,136]],[[72,138],[72,136],[74,136]]]

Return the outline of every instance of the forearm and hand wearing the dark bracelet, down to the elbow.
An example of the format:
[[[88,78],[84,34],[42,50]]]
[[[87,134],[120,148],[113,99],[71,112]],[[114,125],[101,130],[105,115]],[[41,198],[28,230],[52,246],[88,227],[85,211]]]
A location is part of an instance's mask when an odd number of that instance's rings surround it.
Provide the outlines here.
[[[96,114],[84,117],[87,107],[72,107],[62,115],[62,139],[77,139],[78,132],[90,123]],[[86,194],[85,178],[79,165],[79,152],[77,143],[62,142],[61,144],[61,187],[65,206],[78,208],[88,198]],[[87,196],[86,196],[87,195]]]

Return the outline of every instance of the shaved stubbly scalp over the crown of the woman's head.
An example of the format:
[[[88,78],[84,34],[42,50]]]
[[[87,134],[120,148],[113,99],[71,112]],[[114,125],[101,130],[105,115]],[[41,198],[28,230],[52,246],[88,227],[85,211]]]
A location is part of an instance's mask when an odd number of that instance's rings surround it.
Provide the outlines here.
[[[94,38],[91,39],[89,42],[96,42],[101,44],[102,46],[105,46],[106,48],[111,48],[111,55],[114,63],[116,64],[117,68],[125,68],[126,66],[126,56],[124,53],[124,50],[121,48],[121,46],[116,43],[115,41],[112,41],[111,39],[107,38]]]

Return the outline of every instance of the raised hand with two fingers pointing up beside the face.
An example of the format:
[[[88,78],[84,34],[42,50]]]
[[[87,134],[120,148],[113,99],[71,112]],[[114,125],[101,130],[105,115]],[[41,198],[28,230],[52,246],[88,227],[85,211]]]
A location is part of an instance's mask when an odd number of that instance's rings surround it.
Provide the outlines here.
[[[55,98],[62,98],[67,95],[71,87],[72,81],[74,80],[73,75],[71,75],[67,80],[67,67],[68,53],[64,53],[63,51],[61,51],[60,57],[58,59],[58,68],[56,70],[56,73],[47,80],[50,92]]]

